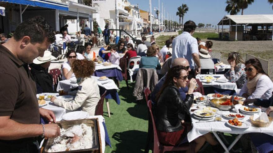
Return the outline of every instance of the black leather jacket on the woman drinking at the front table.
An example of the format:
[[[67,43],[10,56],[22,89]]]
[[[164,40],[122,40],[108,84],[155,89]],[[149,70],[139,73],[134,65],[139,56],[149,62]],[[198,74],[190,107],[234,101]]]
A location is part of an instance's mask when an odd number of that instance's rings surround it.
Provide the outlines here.
[[[193,94],[186,95],[186,99],[183,101],[177,87],[172,85],[166,87],[160,95],[154,110],[157,130],[163,132],[182,130],[181,121],[189,116],[192,103]]]

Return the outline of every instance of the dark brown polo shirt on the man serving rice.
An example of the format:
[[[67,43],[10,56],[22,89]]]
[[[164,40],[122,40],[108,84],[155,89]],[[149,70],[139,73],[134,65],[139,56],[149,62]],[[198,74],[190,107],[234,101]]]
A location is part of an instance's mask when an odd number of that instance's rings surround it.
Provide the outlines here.
[[[39,124],[36,84],[28,65],[0,45],[0,116],[23,124]]]

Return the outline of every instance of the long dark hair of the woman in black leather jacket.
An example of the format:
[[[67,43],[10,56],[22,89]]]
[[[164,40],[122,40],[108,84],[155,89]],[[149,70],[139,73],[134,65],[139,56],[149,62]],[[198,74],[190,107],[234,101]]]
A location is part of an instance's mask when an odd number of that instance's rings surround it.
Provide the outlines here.
[[[160,95],[162,94],[162,92],[164,91],[166,87],[168,87],[169,85],[175,85],[175,83],[173,82],[173,77],[179,78],[181,70],[187,70],[187,69],[185,66],[180,66],[180,65],[170,68],[166,76],[165,82],[156,96],[156,101],[159,100]]]

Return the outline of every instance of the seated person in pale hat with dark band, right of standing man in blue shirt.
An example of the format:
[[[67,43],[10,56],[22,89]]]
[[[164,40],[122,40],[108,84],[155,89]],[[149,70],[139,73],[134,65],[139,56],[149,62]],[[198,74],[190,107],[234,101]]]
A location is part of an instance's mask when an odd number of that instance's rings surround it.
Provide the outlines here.
[[[211,56],[208,54],[207,48],[203,45],[200,45],[199,58],[200,58],[201,72],[203,70],[209,70],[209,69],[214,70],[214,63],[210,57]]]

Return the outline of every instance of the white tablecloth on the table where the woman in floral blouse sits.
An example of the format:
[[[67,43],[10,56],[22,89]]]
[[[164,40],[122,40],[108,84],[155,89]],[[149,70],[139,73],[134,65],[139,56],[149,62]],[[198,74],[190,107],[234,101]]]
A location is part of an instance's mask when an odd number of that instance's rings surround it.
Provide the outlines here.
[[[200,81],[202,82],[202,78],[204,78],[207,75],[208,74],[199,74],[196,76],[196,79],[200,79]],[[224,74],[213,74],[213,76],[220,76],[219,79],[225,78]],[[213,86],[219,89],[237,90],[236,83],[231,83],[231,82],[220,83],[220,82],[213,81],[212,83],[202,83],[202,84],[203,84],[203,87]]]

